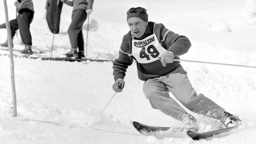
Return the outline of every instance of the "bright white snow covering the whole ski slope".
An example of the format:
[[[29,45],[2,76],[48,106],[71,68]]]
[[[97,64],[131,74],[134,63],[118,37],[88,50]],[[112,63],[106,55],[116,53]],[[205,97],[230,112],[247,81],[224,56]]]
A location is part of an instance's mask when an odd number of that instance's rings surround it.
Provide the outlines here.
[[[9,20],[16,17],[13,1],[7,1]],[[45,1],[34,0],[31,23],[33,50],[50,56],[53,34],[46,20]],[[246,1],[233,0],[97,0],[83,26],[88,33],[87,58],[117,58],[122,37],[129,31],[126,11],[142,6],[149,20],[163,23],[175,33],[188,36],[192,47],[183,60],[256,66],[256,25],[247,25]],[[60,34],[54,36],[52,56],[70,50],[67,34],[72,7],[63,5]],[[0,23],[4,6],[0,3]],[[0,29],[0,41],[6,29]],[[23,49],[20,36],[14,48]],[[8,51],[1,51],[8,53]],[[183,124],[153,109],[142,92],[143,81],[136,65],[128,68],[125,88],[114,95],[112,62],[67,62],[14,58],[17,117],[12,117],[10,59],[0,56],[0,143],[256,143],[256,69],[181,62],[198,93],[237,114],[243,125],[212,139],[194,141],[186,134],[142,136],[132,121],[152,126],[182,127]],[[188,111],[190,112],[190,111]],[[218,121],[195,116],[200,131],[217,129]],[[222,137],[225,136],[225,137]]]

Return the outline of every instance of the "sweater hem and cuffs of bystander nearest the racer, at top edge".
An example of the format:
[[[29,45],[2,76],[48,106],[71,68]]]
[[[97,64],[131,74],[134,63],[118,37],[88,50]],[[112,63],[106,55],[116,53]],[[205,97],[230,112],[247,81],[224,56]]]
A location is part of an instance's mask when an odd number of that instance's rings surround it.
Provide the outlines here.
[[[73,10],[75,11],[77,9],[92,9],[93,0],[65,0],[63,3],[68,4],[69,6],[73,6]]]

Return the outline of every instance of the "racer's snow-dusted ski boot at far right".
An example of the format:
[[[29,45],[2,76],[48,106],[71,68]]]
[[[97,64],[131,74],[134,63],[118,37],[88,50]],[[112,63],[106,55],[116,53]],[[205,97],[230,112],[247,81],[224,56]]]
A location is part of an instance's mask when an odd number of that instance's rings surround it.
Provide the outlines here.
[[[224,112],[224,115],[220,119],[220,122],[223,123],[226,127],[232,127],[242,124],[241,119],[237,115],[232,115],[226,111]]]

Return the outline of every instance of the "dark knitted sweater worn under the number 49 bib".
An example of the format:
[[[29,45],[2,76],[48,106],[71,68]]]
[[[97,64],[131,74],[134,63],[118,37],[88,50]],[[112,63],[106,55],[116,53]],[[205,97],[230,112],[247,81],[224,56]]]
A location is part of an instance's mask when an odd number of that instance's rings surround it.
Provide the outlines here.
[[[134,37],[134,39],[142,40],[147,36],[152,35],[154,31],[154,24],[154,22],[148,22],[148,27],[145,34],[140,38],[132,36],[131,31],[124,35],[119,50],[119,56],[113,62],[113,75],[115,81],[118,78],[124,79],[126,69],[128,66],[132,65],[133,60],[136,60],[132,56],[132,37]],[[159,44],[161,44],[161,46],[166,49],[166,51],[171,51],[174,53],[175,59],[180,59],[178,56],[187,53],[191,46],[191,43],[186,36],[175,34],[174,32],[165,28],[162,23],[155,24],[155,35]],[[136,61],[136,64],[139,79],[146,81],[150,78],[164,76],[172,72],[179,65],[179,61],[167,63],[166,67],[162,65],[160,60],[156,60],[150,63],[139,63]]]

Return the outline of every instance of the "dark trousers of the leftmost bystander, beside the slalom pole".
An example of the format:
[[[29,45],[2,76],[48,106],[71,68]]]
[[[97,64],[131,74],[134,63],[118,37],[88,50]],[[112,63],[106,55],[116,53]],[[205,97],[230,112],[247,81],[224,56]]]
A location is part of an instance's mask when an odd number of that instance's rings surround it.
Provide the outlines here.
[[[32,38],[29,28],[33,17],[33,12],[20,12],[17,19],[9,21],[12,39],[13,36],[15,36],[16,30],[20,29],[20,37],[23,44],[32,45]],[[6,28],[5,23],[1,24],[0,28]]]

